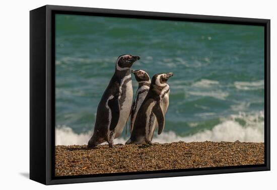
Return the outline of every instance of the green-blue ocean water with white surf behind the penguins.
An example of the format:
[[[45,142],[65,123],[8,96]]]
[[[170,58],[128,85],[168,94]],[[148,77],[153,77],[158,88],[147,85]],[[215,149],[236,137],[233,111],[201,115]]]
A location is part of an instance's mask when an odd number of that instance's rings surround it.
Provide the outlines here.
[[[56,144],[86,144],[116,58],[174,72],[165,129],[154,142],[264,141],[264,30],[94,16],[56,16]],[[137,82],[132,76],[134,94]],[[122,133],[115,143],[124,143]]]

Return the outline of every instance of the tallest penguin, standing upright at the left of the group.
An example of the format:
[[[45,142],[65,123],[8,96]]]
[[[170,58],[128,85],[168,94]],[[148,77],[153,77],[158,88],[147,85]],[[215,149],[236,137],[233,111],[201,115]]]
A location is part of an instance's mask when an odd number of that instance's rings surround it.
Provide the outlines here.
[[[117,58],[115,72],[97,107],[94,131],[88,148],[94,148],[105,141],[112,148],[113,139],[121,135],[132,105],[130,67],[139,59],[139,56],[128,54]]]

